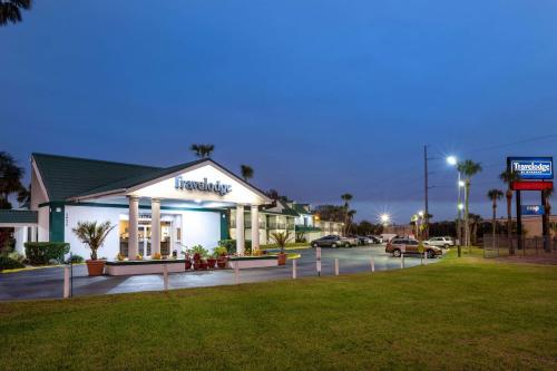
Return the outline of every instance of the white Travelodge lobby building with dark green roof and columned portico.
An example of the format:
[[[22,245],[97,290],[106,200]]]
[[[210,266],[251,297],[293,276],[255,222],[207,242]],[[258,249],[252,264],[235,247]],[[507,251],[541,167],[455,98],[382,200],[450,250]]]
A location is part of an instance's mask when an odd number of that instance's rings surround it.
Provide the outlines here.
[[[110,222],[99,256],[136,260],[172,255],[201,244],[209,251],[229,238],[229,225],[245,230],[260,245],[260,207],[272,204],[262,191],[212,159],[153,167],[56,155],[32,154],[30,209],[2,211],[0,227],[13,227],[16,250],[27,241],[67,242],[71,253],[90,251],[74,234],[78,222]],[[232,213],[231,213],[232,209]],[[229,215],[234,221],[229,223]],[[255,226],[255,227],[254,227]],[[235,235],[233,235],[235,237]]]

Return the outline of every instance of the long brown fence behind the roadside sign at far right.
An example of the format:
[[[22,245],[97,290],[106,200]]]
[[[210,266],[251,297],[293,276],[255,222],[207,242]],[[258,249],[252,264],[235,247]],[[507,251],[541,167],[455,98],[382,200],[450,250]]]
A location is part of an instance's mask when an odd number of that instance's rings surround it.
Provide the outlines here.
[[[521,236],[521,245],[517,235],[492,234],[483,235],[483,256],[532,256],[543,253],[557,253],[557,236],[553,237],[527,237]]]

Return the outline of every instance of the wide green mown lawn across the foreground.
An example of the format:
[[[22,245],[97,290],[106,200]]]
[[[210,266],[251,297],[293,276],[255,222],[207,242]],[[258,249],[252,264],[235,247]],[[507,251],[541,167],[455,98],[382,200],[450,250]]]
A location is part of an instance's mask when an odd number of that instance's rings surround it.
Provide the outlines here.
[[[557,267],[388,273],[0,304],[0,370],[557,369]]]

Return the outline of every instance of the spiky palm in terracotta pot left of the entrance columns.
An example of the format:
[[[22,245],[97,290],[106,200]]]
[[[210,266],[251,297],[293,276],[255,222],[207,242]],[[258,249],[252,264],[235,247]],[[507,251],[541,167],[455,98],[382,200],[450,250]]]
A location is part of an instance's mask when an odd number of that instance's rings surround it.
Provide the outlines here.
[[[71,231],[76,236],[91,250],[91,258],[86,261],[89,275],[101,275],[105,271],[105,261],[97,260],[97,251],[102,246],[105,240],[116,227],[110,222],[97,224],[97,222],[78,222],[77,227]]]

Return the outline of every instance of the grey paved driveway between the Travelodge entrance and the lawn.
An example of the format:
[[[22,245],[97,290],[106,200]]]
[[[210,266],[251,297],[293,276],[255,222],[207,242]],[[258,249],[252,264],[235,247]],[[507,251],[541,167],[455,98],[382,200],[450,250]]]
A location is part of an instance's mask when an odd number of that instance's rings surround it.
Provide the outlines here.
[[[295,251],[302,255],[297,260],[297,276],[316,276],[315,250]],[[375,261],[375,271],[399,270],[400,258],[384,253],[384,246],[354,248],[322,248],[322,275],[334,274],[334,258],[339,258],[340,274],[369,272],[370,257]],[[439,258],[429,260],[429,263]],[[404,265],[420,264],[419,257],[407,257]],[[241,283],[292,279],[292,261],[286,266],[250,269],[241,271]],[[172,273],[170,289],[187,289],[234,284],[233,270]],[[0,274],[0,301],[26,299],[62,297],[63,269],[49,267],[18,273]],[[164,289],[162,274],[134,276],[87,276],[85,265],[74,266],[74,295],[115,294]]]

